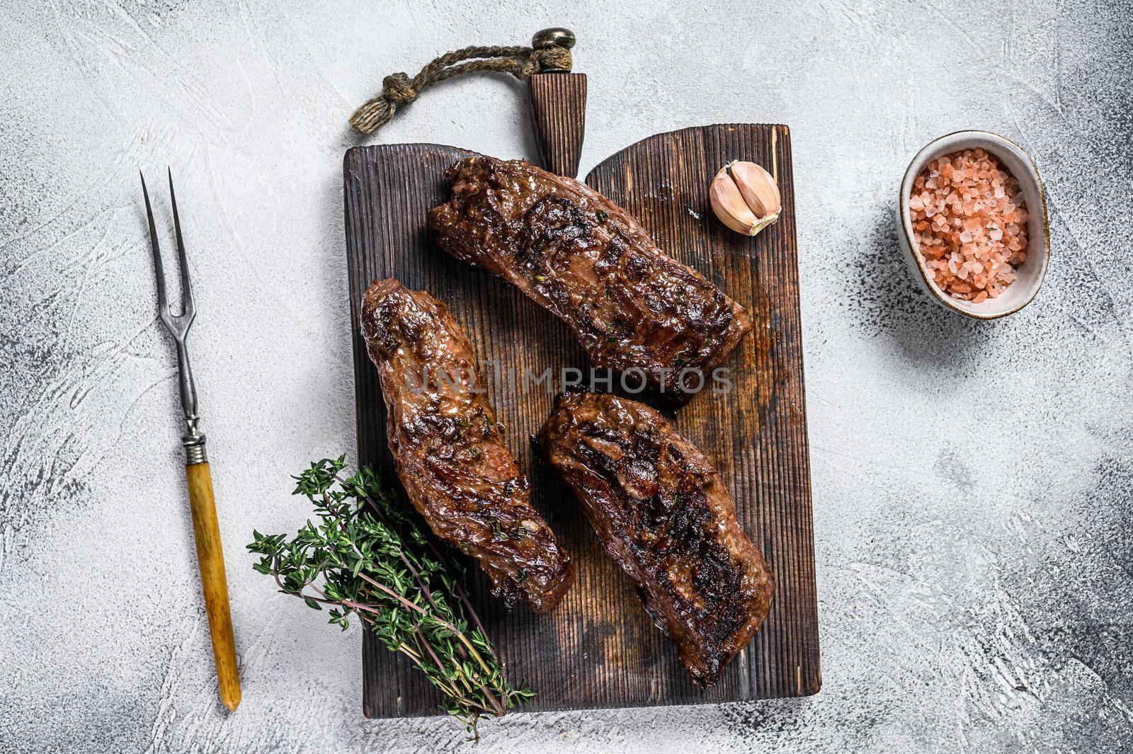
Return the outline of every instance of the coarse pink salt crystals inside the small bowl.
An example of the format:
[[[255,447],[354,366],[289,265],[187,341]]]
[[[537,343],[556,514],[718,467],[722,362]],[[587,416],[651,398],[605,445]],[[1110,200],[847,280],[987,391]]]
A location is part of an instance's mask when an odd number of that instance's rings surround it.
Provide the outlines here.
[[[936,284],[955,299],[996,298],[1026,259],[1019,181],[980,148],[934,160],[909,197],[913,240]]]

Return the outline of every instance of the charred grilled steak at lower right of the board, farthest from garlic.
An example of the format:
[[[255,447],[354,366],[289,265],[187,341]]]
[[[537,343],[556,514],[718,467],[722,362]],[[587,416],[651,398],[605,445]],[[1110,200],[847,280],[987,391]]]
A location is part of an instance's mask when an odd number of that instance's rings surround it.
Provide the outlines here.
[[[539,446],[692,679],[715,684],[774,584],[712,464],[659,413],[614,395],[560,395]]]

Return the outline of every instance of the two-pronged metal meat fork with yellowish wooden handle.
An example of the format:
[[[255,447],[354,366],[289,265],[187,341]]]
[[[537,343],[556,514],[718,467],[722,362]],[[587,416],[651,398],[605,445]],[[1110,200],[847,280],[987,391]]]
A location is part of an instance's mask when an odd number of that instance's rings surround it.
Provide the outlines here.
[[[140,174],[140,173],[139,173]],[[197,389],[189,367],[189,352],[185,336],[196,317],[193,306],[193,286],[189,282],[189,265],[185,258],[181,240],[181,221],[177,215],[177,197],[173,196],[173,173],[169,173],[169,202],[173,206],[173,231],[177,238],[177,256],[181,266],[181,314],[174,316],[165,300],[165,272],[157,248],[157,229],[150,206],[150,191],[142,175],[142,194],[145,196],[145,213],[150,221],[150,245],[153,247],[153,268],[157,276],[157,311],[177,343],[177,371],[180,378],[181,410],[185,412],[187,434],[181,437],[185,446],[185,477],[189,488],[189,508],[193,512],[193,537],[197,545],[197,565],[201,567],[201,585],[205,594],[205,611],[208,614],[208,632],[212,634],[213,658],[216,662],[216,682],[220,699],[229,710],[240,703],[240,676],[236,665],[236,642],[232,639],[232,616],[228,603],[228,580],[224,576],[224,552],[220,543],[220,528],[216,524],[216,503],[213,499],[212,474],[205,453],[205,436],[197,429]]]

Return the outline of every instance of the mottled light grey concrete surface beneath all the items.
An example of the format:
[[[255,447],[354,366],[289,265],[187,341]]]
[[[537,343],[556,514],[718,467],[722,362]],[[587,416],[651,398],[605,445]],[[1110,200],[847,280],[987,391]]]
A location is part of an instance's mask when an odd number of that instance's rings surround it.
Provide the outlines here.
[[[483,9],[491,6],[489,9]],[[579,35],[582,172],[654,132],[790,125],[825,686],[811,699],[514,714],[466,751],[1133,747],[1133,26],[1127,2],[31,2],[0,9],[0,751],[461,744],[367,721],[359,636],[250,569],[289,474],[353,447],[341,157],[381,77]],[[378,142],[534,157],[522,89],[451,82]],[[1047,181],[1023,312],[937,309],[897,182],[999,131]],[[177,177],[244,671],[216,702],[137,170]]]

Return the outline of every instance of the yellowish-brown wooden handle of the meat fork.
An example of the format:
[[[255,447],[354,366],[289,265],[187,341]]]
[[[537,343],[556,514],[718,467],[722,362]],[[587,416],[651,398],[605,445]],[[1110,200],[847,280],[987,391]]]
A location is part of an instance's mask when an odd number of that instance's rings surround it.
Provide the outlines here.
[[[208,612],[208,632],[212,634],[213,657],[216,660],[220,700],[229,710],[236,710],[240,703],[240,674],[236,666],[236,641],[232,639],[232,615],[228,605],[224,551],[220,545],[216,503],[213,499],[208,462],[185,466],[185,477],[189,483],[193,535],[197,541],[197,564],[201,566],[201,585],[205,594],[205,610]]]

